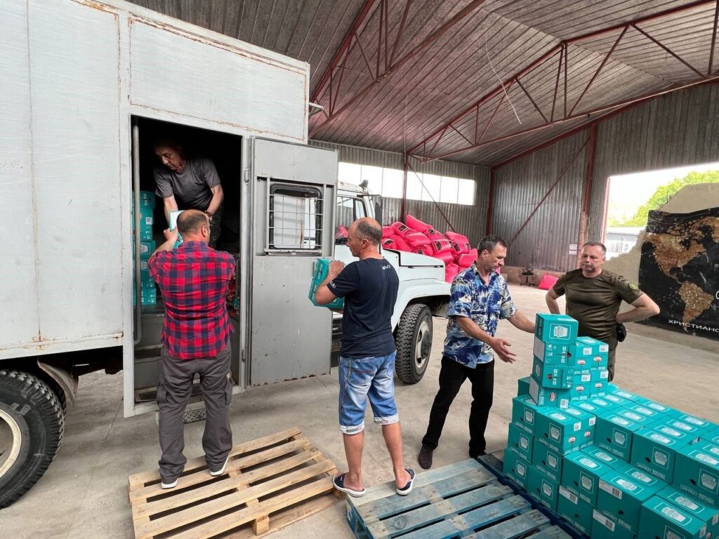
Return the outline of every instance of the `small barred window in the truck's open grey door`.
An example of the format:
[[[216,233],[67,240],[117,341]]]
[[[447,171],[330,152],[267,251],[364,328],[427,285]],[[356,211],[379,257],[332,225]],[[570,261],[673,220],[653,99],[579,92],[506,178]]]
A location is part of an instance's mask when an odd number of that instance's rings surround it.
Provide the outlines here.
[[[270,186],[269,249],[322,249],[322,192],[304,185]]]

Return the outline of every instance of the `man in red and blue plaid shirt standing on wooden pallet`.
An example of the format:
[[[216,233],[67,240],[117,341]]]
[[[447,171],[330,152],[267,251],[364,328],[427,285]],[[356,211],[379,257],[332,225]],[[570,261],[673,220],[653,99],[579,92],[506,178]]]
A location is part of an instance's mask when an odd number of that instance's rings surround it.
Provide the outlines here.
[[[174,249],[178,231],[184,241]],[[211,476],[224,474],[232,448],[229,337],[233,328],[225,298],[235,264],[231,254],[209,247],[209,240],[206,214],[184,211],[178,216],[175,230],[165,230],[165,243],[147,262],[150,277],[157,282],[165,301],[162,372],[157,384],[163,489],[178,484],[187,462],[183,455],[183,413],[195,374],[200,375],[207,412],[202,447]]]

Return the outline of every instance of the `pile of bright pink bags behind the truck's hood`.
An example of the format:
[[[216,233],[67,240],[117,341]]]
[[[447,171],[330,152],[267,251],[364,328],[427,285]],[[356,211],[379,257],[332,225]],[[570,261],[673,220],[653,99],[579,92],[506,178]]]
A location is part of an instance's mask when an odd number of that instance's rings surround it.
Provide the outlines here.
[[[477,259],[477,249],[472,249],[467,236],[457,232],[442,234],[433,226],[418,218],[407,216],[407,224],[396,223],[382,227],[382,245],[440,259],[444,262],[444,280],[452,282],[457,274]]]

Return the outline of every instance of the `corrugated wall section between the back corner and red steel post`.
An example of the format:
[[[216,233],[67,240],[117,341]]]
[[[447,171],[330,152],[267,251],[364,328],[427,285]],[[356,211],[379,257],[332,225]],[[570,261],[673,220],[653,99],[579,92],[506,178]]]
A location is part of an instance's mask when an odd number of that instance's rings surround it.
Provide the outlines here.
[[[575,267],[569,244],[579,236],[587,136],[580,132],[495,170],[492,232],[511,242],[508,265],[551,271]],[[513,239],[564,167],[562,179]]]

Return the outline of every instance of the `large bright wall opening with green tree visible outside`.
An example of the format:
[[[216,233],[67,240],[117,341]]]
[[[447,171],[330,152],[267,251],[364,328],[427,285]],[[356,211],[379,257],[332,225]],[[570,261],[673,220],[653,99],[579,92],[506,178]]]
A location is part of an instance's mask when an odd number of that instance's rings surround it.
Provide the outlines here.
[[[719,183],[719,162],[610,176],[604,234],[607,259],[631,251],[646,228],[649,211],[659,209],[684,185],[695,183]]]

